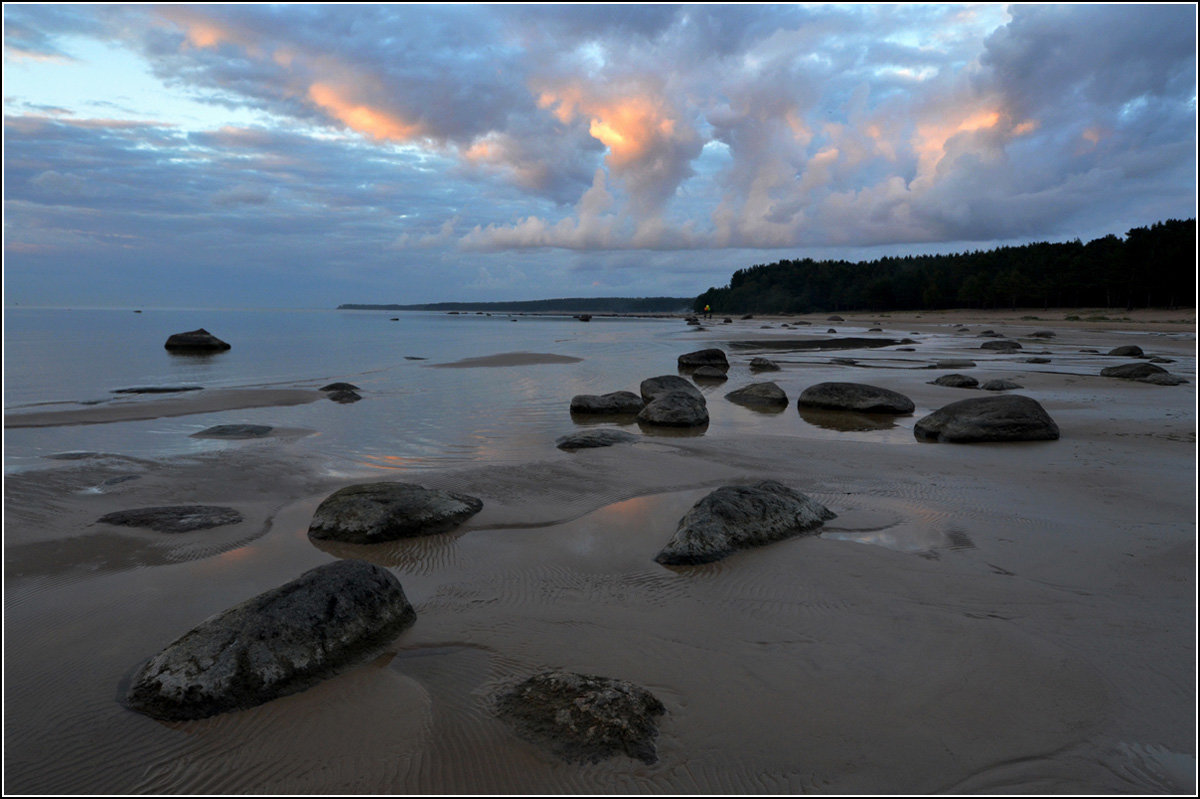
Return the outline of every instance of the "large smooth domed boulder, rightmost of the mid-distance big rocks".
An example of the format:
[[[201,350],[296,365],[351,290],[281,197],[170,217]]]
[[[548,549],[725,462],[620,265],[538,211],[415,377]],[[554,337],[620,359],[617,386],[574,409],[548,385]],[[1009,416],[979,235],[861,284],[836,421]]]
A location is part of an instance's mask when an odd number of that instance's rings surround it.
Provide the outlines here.
[[[959,400],[919,420],[913,434],[928,441],[1044,441],[1058,426],[1036,400],[1016,394]]]

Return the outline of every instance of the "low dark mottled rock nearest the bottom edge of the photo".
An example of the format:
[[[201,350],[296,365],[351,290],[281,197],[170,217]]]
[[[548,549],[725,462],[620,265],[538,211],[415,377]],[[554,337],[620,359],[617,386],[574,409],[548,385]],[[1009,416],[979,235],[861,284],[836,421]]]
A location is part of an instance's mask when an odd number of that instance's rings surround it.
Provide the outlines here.
[[[606,677],[551,671],[534,674],[496,697],[497,713],[522,738],[574,763],[626,755],[659,759],[655,716],[666,713],[646,689]]]

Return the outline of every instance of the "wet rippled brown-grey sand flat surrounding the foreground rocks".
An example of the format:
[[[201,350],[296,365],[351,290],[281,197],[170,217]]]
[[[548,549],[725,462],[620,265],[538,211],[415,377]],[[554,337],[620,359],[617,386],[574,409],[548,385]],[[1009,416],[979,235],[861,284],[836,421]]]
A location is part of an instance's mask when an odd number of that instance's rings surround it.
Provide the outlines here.
[[[702,437],[422,471],[422,485],[485,503],[442,536],[310,541],[324,497],[380,476],[331,474],[287,437],[6,477],[5,789],[1192,793],[1194,335],[1004,320],[1028,352],[996,356],[976,337],[994,319],[970,334],[942,329],[959,319],[878,320],[886,335],[946,337],[856,355],[862,367],[830,362],[845,353],[768,353],[784,370],[757,377],[751,353],[731,353],[708,401],[751,379],[793,401],[812,383],[857,380],[916,401],[895,428],[785,438],[770,432],[784,419],[734,408]],[[739,323],[737,338],[760,323]],[[1175,359],[1165,368],[1192,383],[1100,378],[1123,361],[1079,354],[1122,343]],[[1050,365],[1022,362],[1043,348]],[[916,443],[916,419],[979,396],[928,384],[958,370],[911,368],[952,356],[1016,379],[1062,438]],[[766,477],[838,518],[716,564],[653,561],[708,491]],[[173,536],[95,523],[182,503],[245,521]],[[160,723],[118,702],[143,659],[204,618],[346,557],[392,569],[418,611],[374,661],[204,721]],[[655,693],[667,707],[659,762],[563,763],[493,717],[496,687],[551,667]]]

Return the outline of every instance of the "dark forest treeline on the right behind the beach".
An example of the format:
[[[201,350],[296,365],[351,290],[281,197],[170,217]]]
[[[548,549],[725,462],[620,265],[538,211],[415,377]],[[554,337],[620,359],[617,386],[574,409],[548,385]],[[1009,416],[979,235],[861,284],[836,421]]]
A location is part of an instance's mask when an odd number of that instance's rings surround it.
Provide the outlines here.
[[[1176,307],[1195,302],[1196,221],[1124,239],[1039,242],[872,262],[780,260],[733,272],[694,304],[716,313],[1018,307]]]

